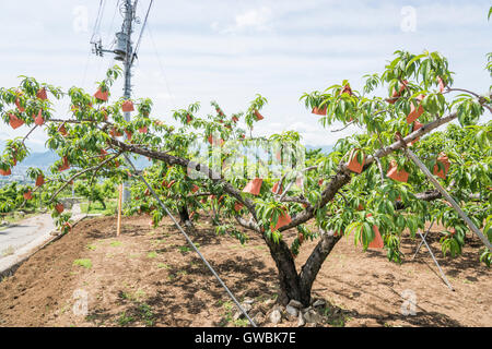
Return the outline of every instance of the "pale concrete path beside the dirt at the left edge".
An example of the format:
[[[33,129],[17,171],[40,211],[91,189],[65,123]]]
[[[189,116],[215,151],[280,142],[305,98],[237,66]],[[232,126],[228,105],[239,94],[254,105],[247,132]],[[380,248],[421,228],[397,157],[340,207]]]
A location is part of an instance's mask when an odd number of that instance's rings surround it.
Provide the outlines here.
[[[71,219],[78,221],[85,216],[80,205],[74,204]],[[34,249],[52,239],[54,236],[50,232],[55,229],[51,215],[43,214],[0,230],[0,275],[22,261]]]

